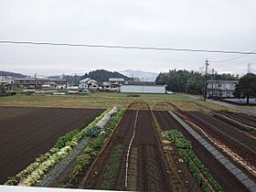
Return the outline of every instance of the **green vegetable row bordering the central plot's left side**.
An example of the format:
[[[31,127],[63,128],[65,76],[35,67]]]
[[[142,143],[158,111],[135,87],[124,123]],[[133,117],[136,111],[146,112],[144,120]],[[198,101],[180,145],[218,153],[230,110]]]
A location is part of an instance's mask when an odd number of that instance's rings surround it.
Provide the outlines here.
[[[112,119],[105,126],[104,131],[101,131],[98,136],[93,138],[81,155],[76,158],[76,163],[69,172],[69,176],[59,184],[59,187],[76,187],[79,184],[80,179],[89,170],[93,160],[99,155],[104,141],[122,120],[123,114],[124,111],[119,110],[112,115]]]

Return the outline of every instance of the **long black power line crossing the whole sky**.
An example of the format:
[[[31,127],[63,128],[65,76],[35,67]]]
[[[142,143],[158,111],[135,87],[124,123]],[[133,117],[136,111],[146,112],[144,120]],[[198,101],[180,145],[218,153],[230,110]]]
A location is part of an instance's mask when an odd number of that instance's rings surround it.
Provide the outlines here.
[[[208,53],[223,53],[223,54],[256,55],[256,52],[248,52],[248,51],[208,50],[208,49],[192,49],[192,48],[158,48],[158,47],[92,45],[92,44],[70,44],[70,43],[11,41],[11,40],[0,40],[0,44],[26,44],[26,45],[69,46],[69,47],[87,47],[87,48],[124,48],[124,49],[190,51],[190,52],[208,52]]]

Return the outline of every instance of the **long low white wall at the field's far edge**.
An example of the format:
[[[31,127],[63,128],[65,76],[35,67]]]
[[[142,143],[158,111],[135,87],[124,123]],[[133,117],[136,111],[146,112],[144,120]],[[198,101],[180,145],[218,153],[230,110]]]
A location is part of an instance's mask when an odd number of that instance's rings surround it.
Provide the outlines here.
[[[165,93],[165,86],[122,85],[121,92]]]

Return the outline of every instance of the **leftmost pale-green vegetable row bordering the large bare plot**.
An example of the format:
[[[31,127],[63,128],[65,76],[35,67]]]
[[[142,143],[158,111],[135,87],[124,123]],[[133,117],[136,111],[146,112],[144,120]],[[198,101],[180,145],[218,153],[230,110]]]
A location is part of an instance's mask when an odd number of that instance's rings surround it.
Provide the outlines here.
[[[95,125],[102,119],[104,114],[109,112],[106,110],[101,115],[96,117],[89,125],[82,130],[75,129],[64,136],[59,137],[57,143],[46,154],[37,157],[36,161],[28,165],[24,170],[19,172],[16,176],[10,176],[5,185],[11,186],[33,186],[48,173],[48,170],[54,165],[58,164],[60,160],[65,158],[69,152],[79,144],[84,135],[88,135],[91,130],[95,130]]]

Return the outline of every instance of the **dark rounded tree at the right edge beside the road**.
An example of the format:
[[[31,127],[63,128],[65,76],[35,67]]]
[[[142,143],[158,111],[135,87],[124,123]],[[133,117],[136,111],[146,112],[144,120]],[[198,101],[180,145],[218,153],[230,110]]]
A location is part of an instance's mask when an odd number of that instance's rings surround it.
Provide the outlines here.
[[[238,98],[246,98],[246,103],[249,104],[249,99],[256,96],[256,75],[247,73],[240,78],[236,86],[235,96]]]

